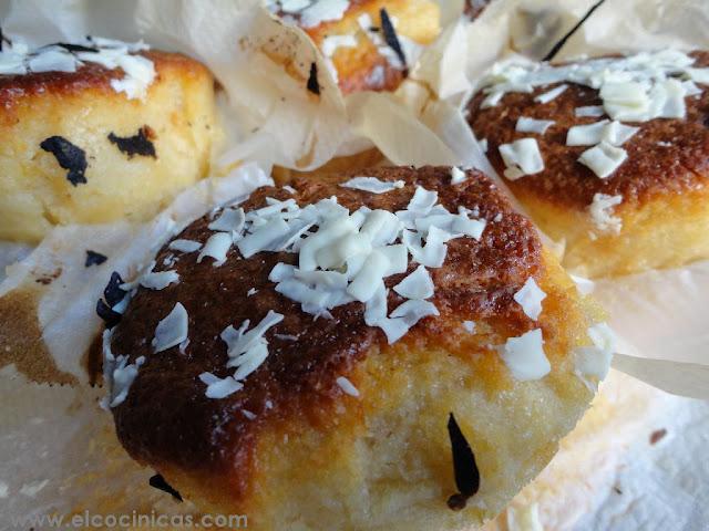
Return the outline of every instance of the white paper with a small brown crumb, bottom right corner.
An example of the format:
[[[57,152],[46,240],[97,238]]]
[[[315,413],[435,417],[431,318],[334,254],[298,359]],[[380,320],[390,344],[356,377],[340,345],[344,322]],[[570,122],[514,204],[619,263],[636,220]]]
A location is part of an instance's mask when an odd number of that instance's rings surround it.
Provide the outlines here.
[[[592,409],[511,508],[536,504],[545,531],[705,529],[707,429],[706,403],[612,371]],[[516,530],[503,513],[484,531]]]

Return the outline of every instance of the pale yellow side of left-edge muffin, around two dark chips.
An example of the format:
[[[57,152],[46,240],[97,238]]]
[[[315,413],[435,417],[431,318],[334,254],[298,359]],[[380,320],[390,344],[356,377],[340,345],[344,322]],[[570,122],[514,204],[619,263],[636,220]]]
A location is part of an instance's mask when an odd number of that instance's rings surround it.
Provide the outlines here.
[[[38,241],[55,225],[142,221],[208,171],[214,81],[187,58],[155,61],[144,102],[102,83],[32,93],[0,112],[0,239]],[[30,74],[33,75],[33,74]],[[75,75],[81,75],[76,73]],[[109,135],[147,127],[156,157],[130,157]],[[61,136],[83,149],[85,184],[72,185],[40,147]]]

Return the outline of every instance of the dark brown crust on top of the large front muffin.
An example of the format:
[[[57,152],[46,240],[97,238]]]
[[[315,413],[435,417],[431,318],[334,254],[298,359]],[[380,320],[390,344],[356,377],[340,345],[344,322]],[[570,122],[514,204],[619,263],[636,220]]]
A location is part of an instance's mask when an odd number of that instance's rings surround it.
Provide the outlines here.
[[[363,205],[397,211],[407,207],[417,185],[438,191],[439,204],[451,211],[461,205],[477,207],[480,219],[487,221],[480,241],[449,241],[443,266],[430,269],[435,284],[431,302],[440,316],[423,319],[400,341],[440,342],[446,324],[473,319],[500,320],[510,335],[534,326],[513,295],[530,275],[541,272],[542,246],[531,223],[511,208],[494,184],[471,170],[465,181],[451,185],[450,168],[445,167],[377,168],[366,175],[401,179],[405,186],[376,195],[302,179],[294,183],[292,195],[282,188],[260,188],[243,208],[259,208],[267,197],[292,197],[304,207],[335,195],[350,211]],[[207,228],[209,220],[207,216],[193,222],[176,238],[205,242],[213,233]],[[164,247],[156,263],[162,264],[171,254],[176,253]],[[114,355],[126,355],[131,363],[140,356],[146,358],[127,398],[113,408],[119,438],[133,458],[195,471],[226,468],[235,472],[239,482],[235,487],[245,489],[253,465],[249,457],[263,426],[288,418],[327,425],[328,412],[343,393],[337,377],[349,374],[372,347],[384,348],[387,339],[379,327],[364,323],[362,303],[337,306],[331,310],[332,319],[315,320],[298,303],[275,292],[269,272],[277,262],[294,263],[296,257],[260,252],[244,259],[232,248],[226,262],[214,267],[212,260],[197,263],[196,253],[185,254],[171,267],[155,269],[175,270],[178,283],[162,290],[137,290],[112,340]],[[386,278],[386,285],[397,284],[415,267],[411,261],[407,273]],[[401,301],[390,291],[389,308]],[[153,353],[156,325],[176,302],[187,311],[189,342],[184,352],[175,346]],[[226,368],[222,331],[229,324],[238,327],[247,319],[258,323],[271,310],[285,319],[266,333],[268,357],[246,378],[243,389],[222,399],[207,398],[199,374],[225,377],[233,372]],[[255,418],[247,418],[243,410]]]

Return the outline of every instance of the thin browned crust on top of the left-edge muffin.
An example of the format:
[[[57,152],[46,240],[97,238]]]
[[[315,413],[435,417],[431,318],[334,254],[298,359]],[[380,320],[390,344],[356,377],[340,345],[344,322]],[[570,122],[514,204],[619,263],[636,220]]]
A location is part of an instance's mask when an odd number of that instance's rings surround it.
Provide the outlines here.
[[[206,66],[182,53],[147,51],[141,55],[153,61],[156,79],[172,69],[179,70],[187,75],[212,75]],[[0,108],[9,110],[13,105],[32,96],[78,95],[86,90],[96,90],[115,94],[111,87],[111,80],[123,79],[122,69],[106,69],[99,63],[84,62],[75,72],[40,72],[23,75],[0,75]]]

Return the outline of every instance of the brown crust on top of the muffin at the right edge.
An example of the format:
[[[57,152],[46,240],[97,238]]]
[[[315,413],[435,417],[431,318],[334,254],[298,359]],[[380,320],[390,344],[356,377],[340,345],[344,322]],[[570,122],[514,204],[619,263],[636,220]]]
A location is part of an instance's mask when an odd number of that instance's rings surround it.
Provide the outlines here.
[[[709,66],[709,52],[689,54],[696,59],[692,66]],[[583,64],[583,63],[579,63]],[[535,97],[562,84],[568,87],[548,103]],[[595,194],[620,195],[624,202],[641,202],[661,194],[706,186],[709,175],[709,91],[686,97],[686,118],[654,118],[648,122],[621,121],[639,127],[639,132],[623,144],[627,160],[602,179],[578,162],[579,155],[590,146],[567,146],[566,134],[574,125],[590,124],[600,117],[578,117],[575,110],[602,105],[597,90],[563,82],[536,87],[531,93],[506,93],[502,101],[481,108],[485,94],[476,94],[469,105],[469,124],[479,139],[487,140],[487,157],[502,174],[505,164],[499,147],[520,138],[536,139],[544,159],[544,169],[507,184],[515,194],[531,194],[562,207],[586,208]],[[551,119],[555,123],[545,134],[515,131],[521,116]]]

